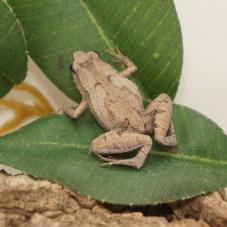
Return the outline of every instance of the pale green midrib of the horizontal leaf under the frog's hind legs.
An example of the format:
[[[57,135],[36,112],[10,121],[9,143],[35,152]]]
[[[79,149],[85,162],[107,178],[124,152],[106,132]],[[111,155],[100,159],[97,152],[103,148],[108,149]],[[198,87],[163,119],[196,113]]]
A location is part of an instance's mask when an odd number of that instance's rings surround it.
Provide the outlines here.
[[[23,141],[21,141],[23,143]],[[24,141],[25,143],[25,141]],[[58,143],[54,141],[37,141],[33,143],[26,142],[27,146],[60,146],[60,147],[69,147],[69,148],[76,148],[76,149],[89,149],[89,144],[77,144],[77,143]],[[199,157],[195,155],[185,155],[185,154],[171,154],[168,152],[161,152],[161,151],[151,151],[152,155],[158,155],[158,156],[165,156],[165,157],[171,157],[175,159],[182,159],[182,160],[191,160],[191,161],[197,161],[197,162],[205,162],[209,164],[215,164],[215,165],[227,165],[227,161],[223,160],[215,160],[215,159],[209,159],[204,157]]]

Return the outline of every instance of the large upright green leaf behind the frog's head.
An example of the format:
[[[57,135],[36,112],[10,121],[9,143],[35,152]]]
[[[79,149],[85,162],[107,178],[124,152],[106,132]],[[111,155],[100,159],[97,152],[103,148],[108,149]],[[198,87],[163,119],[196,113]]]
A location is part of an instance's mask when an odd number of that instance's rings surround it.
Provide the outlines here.
[[[172,0],[9,0],[28,48],[46,75],[77,101],[69,65],[76,50],[118,46],[138,66],[145,96],[174,97],[182,66],[180,26]]]

